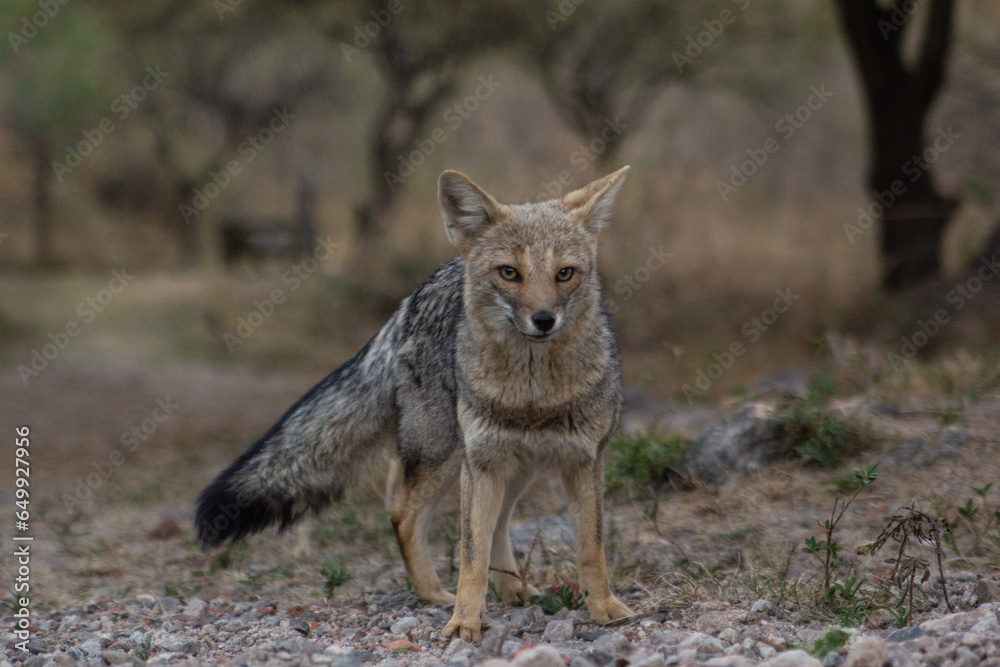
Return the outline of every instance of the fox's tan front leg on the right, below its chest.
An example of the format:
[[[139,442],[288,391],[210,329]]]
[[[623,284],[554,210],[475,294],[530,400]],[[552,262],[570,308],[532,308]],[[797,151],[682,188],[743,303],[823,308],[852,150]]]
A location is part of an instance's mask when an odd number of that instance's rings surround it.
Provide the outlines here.
[[[604,460],[563,471],[579,556],[580,588],[591,618],[600,623],[631,616],[611,593],[604,560]]]

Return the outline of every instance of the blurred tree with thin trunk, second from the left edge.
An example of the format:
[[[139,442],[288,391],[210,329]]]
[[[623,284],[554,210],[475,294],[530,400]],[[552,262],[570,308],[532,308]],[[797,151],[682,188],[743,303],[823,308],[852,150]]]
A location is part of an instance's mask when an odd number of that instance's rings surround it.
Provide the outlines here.
[[[177,232],[181,262],[190,265],[210,200],[304,104],[334,88],[333,53],[294,6],[123,2],[117,17],[135,76],[150,66],[169,75],[143,112],[169,181],[167,222]]]

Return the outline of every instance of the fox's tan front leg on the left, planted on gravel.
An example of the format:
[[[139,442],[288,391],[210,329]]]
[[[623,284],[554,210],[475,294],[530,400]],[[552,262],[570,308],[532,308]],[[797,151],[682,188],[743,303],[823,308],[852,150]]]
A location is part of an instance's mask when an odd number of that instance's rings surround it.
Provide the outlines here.
[[[503,502],[503,480],[462,466],[462,539],[455,611],[443,634],[466,641],[482,639],[486,614],[487,566],[493,529]]]

